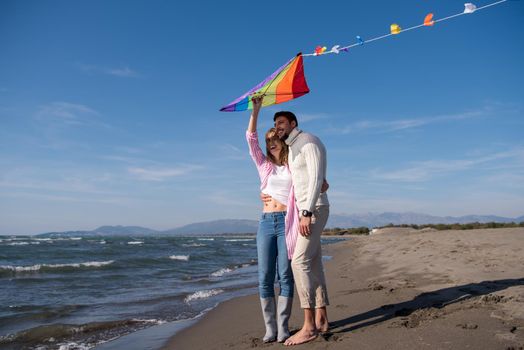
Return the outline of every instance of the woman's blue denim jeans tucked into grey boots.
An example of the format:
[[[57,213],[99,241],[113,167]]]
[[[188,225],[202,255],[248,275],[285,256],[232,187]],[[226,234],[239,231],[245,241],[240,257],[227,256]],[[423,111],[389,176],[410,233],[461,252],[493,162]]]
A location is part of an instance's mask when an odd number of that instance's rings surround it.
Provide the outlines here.
[[[261,298],[275,296],[278,271],[279,295],[293,297],[293,271],[287,257],[286,212],[262,213],[257,232],[258,289]],[[278,269],[278,270],[277,270]]]

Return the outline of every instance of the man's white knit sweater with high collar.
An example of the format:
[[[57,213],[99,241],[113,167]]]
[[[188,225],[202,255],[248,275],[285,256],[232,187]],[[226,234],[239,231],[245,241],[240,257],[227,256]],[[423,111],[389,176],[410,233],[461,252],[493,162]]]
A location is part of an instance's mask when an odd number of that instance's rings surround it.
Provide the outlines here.
[[[286,139],[289,145],[289,170],[300,212],[314,211],[316,206],[329,205],[327,194],[320,193],[326,178],[326,148],[320,139],[294,128]]]

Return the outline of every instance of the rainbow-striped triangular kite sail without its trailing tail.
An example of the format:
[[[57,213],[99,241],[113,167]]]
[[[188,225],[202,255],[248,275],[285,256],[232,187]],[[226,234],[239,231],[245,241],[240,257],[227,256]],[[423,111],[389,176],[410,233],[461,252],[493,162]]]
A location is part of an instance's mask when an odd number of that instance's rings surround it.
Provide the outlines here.
[[[308,92],[309,87],[304,76],[302,53],[299,53],[257,86],[227,106],[222,107],[220,111],[238,112],[253,109],[251,98],[255,96],[264,96],[262,106],[265,107],[287,102]]]

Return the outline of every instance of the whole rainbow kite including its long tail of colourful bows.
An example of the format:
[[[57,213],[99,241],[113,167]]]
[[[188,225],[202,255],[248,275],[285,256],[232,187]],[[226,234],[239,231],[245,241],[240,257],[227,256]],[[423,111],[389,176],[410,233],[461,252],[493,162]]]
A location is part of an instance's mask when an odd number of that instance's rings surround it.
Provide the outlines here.
[[[339,54],[341,52],[349,52],[349,49],[353,49],[356,46],[362,46],[364,43],[371,43],[373,41],[382,40],[392,35],[398,35],[405,33],[413,29],[419,29],[423,27],[432,27],[438,22],[450,20],[455,17],[472,14],[476,11],[483,10],[495,5],[502,4],[508,0],[498,0],[493,3],[477,7],[475,4],[470,2],[464,4],[464,10],[451,16],[443,17],[440,19],[433,19],[433,13],[428,13],[424,18],[422,24],[417,24],[406,29],[402,29],[397,23],[390,25],[390,31],[387,34],[364,40],[361,36],[357,35],[357,42],[343,46],[335,45],[331,50],[327,50],[326,46],[317,46],[315,51],[312,53],[302,54],[299,53],[296,57],[292,58],[285,65],[277,69],[276,72],[271,74],[269,77],[264,79],[260,84],[240,96],[230,104],[222,107],[222,112],[236,112],[245,111],[246,109],[253,109],[251,98],[255,96],[264,96],[262,107],[270,106],[277,103],[286,102],[294,98],[305,95],[309,92],[309,88],[306,83],[306,77],[304,76],[304,65],[302,63],[302,57],[307,56],[324,56],[327,54]]]

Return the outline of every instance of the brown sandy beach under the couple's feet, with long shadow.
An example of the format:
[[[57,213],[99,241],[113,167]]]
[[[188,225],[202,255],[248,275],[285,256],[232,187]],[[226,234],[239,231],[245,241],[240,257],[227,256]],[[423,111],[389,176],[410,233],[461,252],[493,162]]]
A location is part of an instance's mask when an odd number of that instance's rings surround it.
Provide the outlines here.
[[[330,332],[301,349],[524,349],[524,228],[384,229],[324,247]],[[290,327],[302,324],[295,298]],[[220,304],[165,349],[263,344],[257,295]]]

